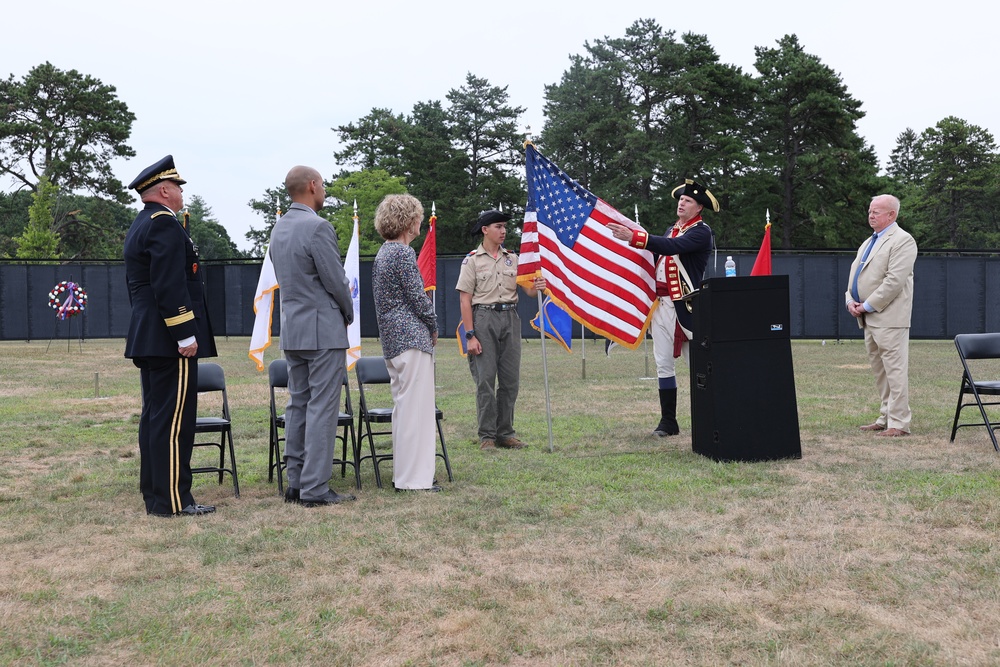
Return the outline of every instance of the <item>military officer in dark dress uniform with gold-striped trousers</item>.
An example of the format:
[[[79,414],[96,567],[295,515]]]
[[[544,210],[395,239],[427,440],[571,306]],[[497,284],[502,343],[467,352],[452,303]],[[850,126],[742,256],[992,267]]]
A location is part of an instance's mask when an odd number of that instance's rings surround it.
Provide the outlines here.
[[[168,155],[128,186],[145,207],[125,235],[125,356],[142,380],[139,488],[146,513],[161,517],[215,511],[191,496],[198,359],[216,351],[197,248],[177,219],[184,183]]]

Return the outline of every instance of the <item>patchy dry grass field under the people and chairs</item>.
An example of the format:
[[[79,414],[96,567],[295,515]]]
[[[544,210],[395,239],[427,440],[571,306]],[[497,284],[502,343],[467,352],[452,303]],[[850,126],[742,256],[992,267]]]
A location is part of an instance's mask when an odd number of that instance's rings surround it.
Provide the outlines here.
[[[481,453],[445,339],[455,481],[396,494],[367,466],[357,502],[304,509],[267,481],[267,375],[220,339],[242,496],[199,475],[218,512],[171,520],[143,512],[122,341],[47,342],[0,343],[2,665],[1000,664],[1000,454],[984,428],[948,442],[950,341],[912,343],[899,439],[856,428],[860,342],[794,342],[802,458],[717,463],[691,451],[686,378],[682,434],[655,438],[652,360],[598,344],[585,378],[548,346],[549,452],[538,341],[531,447]]]

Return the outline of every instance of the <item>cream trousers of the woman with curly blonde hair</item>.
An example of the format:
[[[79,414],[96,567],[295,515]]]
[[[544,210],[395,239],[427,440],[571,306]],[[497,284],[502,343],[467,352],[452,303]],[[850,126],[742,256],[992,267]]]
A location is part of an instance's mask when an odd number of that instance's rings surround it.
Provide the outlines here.
[[[393,400],[392,482],[397,489],[429,489],[437,449],[434,357],[411,348],[385,365]]]

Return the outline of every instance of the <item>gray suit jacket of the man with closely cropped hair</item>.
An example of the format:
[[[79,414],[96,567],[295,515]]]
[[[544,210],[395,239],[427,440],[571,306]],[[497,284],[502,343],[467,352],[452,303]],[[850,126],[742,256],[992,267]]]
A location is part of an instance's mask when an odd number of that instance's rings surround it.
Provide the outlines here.
[[[274,224],[268,247],[281,299],[281,349],[347,349],[354,319],[337,234],[304,204]]]

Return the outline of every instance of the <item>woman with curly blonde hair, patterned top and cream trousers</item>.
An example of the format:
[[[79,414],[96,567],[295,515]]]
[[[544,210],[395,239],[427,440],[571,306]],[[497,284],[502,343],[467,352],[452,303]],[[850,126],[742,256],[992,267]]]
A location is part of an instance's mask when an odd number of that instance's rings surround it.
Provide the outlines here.
[[[395,404],[392,480],[397,491],[441,490],[434,484],[437,316],[410,247],[423,217],[424,207],[410,195],[388,195],[375,211],[375,230],[385,243],[372,265],[372,294]]]

